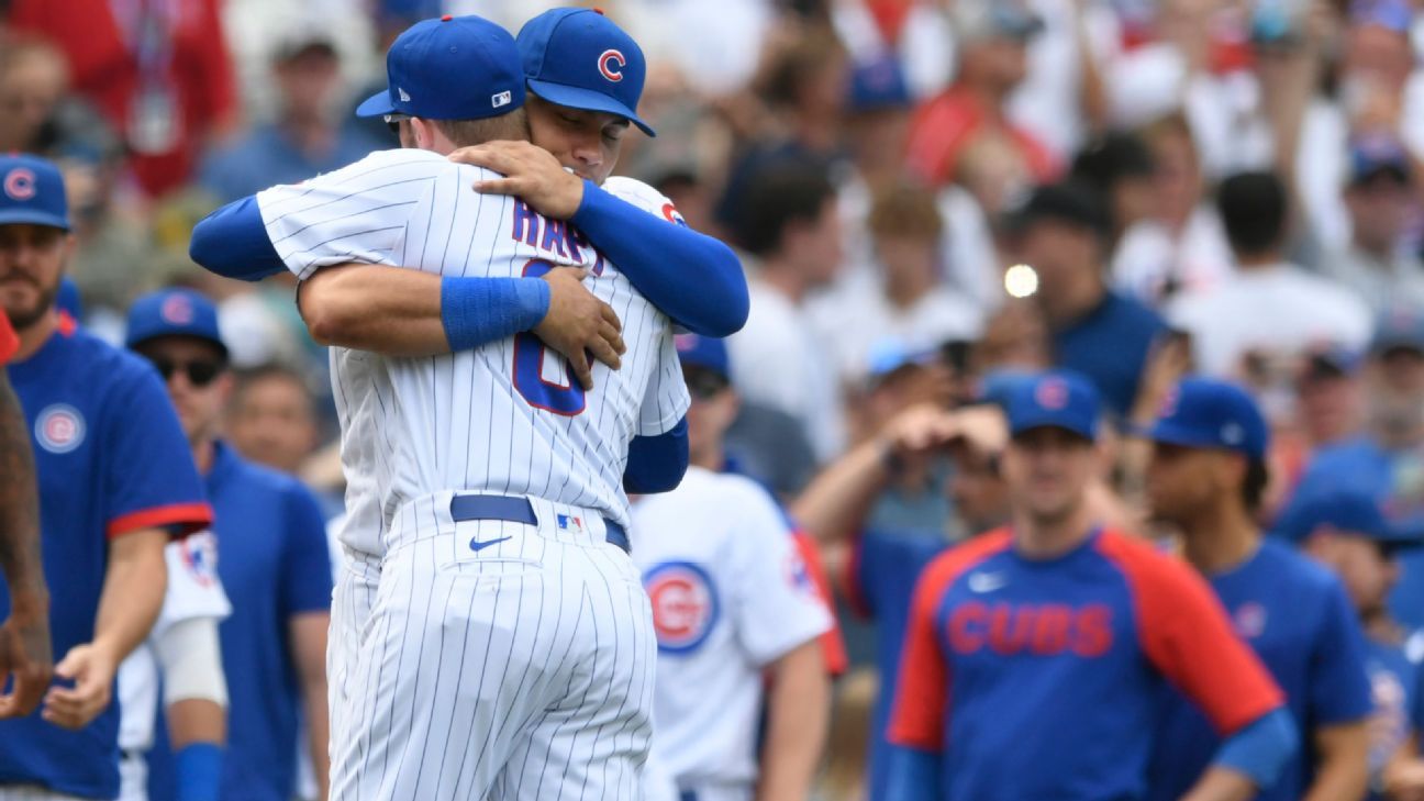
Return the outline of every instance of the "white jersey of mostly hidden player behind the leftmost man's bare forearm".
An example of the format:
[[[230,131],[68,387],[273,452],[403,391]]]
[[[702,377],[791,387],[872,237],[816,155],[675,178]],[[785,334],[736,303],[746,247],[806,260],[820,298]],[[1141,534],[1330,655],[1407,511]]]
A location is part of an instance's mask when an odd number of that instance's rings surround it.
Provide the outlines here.
[[[218,580],[218,543],[212,532],[199,532],[168,543],[164,559],[168,563],[168,587],[164,591],[162,611],[158,613],[148,640],[118,666],[118,747],[122,751],[147,751],[154,744],[159,676],[158,658],[150,643],[184,620],[224,620],[232,614],[232,604]]]

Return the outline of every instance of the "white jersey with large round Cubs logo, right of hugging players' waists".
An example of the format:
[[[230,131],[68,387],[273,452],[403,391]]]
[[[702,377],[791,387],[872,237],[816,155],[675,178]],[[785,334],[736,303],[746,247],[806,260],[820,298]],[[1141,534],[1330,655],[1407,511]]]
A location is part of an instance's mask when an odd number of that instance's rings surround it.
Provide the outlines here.
[[[762,668],[827,631],[830,613],[782,512],[742,476],[689,467],[638,502],[634,534],[658,633],[658,771],[750,798]]]

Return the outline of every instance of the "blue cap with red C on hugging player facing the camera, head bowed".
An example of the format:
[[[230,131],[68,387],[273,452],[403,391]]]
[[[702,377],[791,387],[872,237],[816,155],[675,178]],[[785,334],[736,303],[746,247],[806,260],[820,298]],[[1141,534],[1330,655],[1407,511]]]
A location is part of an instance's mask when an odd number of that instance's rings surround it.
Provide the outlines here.
[[[553,9],[524,23],[517,37],[530,91],[555,105],[638,117],[648,63],[642,48],[602,11]]]

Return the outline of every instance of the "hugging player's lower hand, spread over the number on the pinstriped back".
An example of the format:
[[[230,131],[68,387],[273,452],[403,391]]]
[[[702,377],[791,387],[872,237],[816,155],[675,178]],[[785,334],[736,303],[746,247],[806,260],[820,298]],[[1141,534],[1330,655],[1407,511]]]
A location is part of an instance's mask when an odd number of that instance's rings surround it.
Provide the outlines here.
[[[568,359],[584,389],[594,388],[592,361],[612,369],[622,366],[628,351],[622,341],[622,322],[608,304],[581,284],[587,269],[561,267],[543,275],[548,282],[548,314],[534,326],[545,345]]]

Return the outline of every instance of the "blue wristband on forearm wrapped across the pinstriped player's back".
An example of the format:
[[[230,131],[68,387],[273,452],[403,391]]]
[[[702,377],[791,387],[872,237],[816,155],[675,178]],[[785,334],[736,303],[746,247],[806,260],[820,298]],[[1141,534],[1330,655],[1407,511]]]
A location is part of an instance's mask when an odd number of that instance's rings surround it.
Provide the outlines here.
[[[528,331],[548,314],[540,278],[453,278],[440,282],[440,324],[451,352]]]

